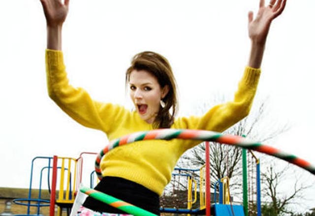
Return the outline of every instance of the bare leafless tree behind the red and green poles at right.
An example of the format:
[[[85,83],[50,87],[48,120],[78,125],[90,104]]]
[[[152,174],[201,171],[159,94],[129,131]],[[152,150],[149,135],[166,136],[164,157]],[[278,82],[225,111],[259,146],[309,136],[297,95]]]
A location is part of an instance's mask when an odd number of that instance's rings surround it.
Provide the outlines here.
[[[224,100],[224,97],[217,97],[219,100]],[[224,134],[233,134],[238,136],[246,136],[252,140],[265,142],[275,138],[277,135],[288,130],[287,124],[283,126],[273,127],[271,123],[267,123],[268,127],[262,127],[264,121],[262,118],[266,115],[266,104],[268,99],[264,99],[258,104],[258,108],[252,109],[249,117],[230,127]],[[205,112],[205,108],[209,107],[203,104],[199,108],[201,112]],[[267,128],[262,130],[262,128]],[[211,187],[223,177],[240,178],[242,176],[242,149],[234,146],[221,145],[219,143],[211,143],[210,145],[210,163],[211,163]],[[179,161],[179,166],[199,167],[205,164],[205,145],[200,144],[184,154]],[[230,189],[240,191],[242,181],[231,181]]]

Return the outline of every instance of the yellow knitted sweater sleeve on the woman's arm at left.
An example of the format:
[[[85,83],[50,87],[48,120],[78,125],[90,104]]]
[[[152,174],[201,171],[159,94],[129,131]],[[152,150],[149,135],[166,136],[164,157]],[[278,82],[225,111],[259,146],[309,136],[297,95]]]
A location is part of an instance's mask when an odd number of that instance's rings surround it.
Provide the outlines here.
[[[123,107],[97,102],[84,89],[72,87],[61,51],[46,50],[46,73],[50,98],[78,123],[108,133],[117,122],[115,119],[126,114]]]

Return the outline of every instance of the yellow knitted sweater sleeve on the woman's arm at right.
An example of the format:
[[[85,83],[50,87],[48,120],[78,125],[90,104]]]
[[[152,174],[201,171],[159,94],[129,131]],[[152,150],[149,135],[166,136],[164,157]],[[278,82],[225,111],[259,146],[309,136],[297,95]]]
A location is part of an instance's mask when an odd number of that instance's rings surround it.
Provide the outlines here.
[[[174,127],[222,132],[241,121],[251,110],[260,73],[260,69],[246,67],[232,101],[212,107],[201,117],[179,118],[174,123]],[[196,141],[186,141],[184,142],[185,150],[197,144]]]

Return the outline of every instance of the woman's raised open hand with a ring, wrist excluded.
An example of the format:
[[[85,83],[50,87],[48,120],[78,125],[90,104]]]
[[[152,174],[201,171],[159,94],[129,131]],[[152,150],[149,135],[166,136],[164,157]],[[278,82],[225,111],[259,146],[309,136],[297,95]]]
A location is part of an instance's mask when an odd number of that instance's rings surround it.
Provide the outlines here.
[[[265,44],[271,22],[283,12],[285,3],[286,0],[270,0],[265,6],[265,0],[260,0],[255,19],[253,19],[253,12],[249,12],[248,31],[253,43]]]

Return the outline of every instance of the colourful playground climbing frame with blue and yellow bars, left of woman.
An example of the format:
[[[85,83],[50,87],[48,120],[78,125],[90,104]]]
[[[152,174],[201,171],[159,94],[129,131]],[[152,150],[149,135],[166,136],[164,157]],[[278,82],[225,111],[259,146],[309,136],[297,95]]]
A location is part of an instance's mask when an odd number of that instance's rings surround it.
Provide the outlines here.
[[[49,207],[49,215],[55,215],[55,205],[57,206],[57,215],[61,216],[63,210],[69,215],[76,192],[82,181],[83,155],[96,153],[81,153],[78,158],[71,157],[44,157],[37,156],[32,159],[31,178],[28,198],[14,199],[13,202],[18,205],[27,206],[27,213],[18,216],[41,216],[41,207]],[[37,162],[37,163],[36,163]],[[40,163],[41,162],[41,163]],[[34,171],[40,167],[39,188],[34,189]],[[41,167],[42,166],[42,167]],[[47,185],[50,199],[42,198],[43,179],[46,171]],[[34,193],[38,193],[37,198]],[[36,208],[35,214],[31,214],[31,207]]]

